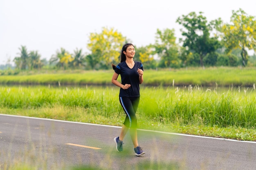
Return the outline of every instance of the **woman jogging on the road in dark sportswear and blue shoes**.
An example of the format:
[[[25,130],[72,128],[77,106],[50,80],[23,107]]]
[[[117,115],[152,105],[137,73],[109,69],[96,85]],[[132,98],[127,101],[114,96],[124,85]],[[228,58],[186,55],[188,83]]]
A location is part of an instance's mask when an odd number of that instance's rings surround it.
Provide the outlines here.
[[[112,83],[120,87],[119,102],[126,113],[126,118],[121,129],[119,137],[115,137],[116,148],[118,152],[123,151],[123,139],[130,129],[130,136],[134,145],[135,155],[145,154],[138,144],[137,138],[137,117],[135,115],[139,105],[139,84],[143,82],[143,64],[133,60],[135,48],[133,44],[124,44],[121,51],[121,62],[115,66],[112,64],[115,73],[112,77]],[[117,78],[121,75],[121,83]]]

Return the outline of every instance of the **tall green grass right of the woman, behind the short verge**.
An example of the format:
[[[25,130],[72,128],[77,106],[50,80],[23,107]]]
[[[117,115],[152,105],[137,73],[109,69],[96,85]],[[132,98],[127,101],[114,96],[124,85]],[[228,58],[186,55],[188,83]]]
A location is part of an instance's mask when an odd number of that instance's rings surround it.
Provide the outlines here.
[[[225,92],[191,88],[145,89],[143,113],[164,123],[180,126],[256,127],[256,93],[229,89]],[[145,92],[143,91],[143,92]]]

